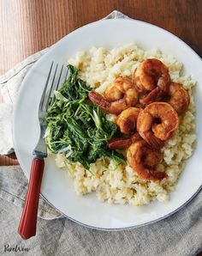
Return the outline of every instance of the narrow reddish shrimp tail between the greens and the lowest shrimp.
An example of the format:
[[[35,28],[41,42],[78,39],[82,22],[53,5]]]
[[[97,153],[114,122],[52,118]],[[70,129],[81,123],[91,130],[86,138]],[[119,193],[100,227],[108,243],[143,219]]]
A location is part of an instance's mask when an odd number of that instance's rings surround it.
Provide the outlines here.
[[[140,134],[135,132],[131,137],[115,137],[110,140],[108,147],[110,149],[127,149],[131,144],[142,140]]]

